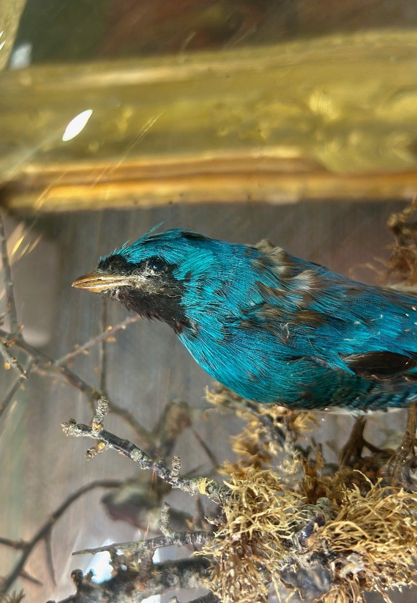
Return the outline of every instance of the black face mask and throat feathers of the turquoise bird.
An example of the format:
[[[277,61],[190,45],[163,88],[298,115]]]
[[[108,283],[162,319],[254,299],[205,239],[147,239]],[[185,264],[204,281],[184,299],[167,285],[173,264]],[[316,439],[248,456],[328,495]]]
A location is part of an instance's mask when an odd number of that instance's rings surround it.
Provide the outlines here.
[[[159,257],[133,264],[120,254],[114,254],[101,260],[97,270],[118,276],[141,277],[144,284],[140,288],[121,286],[109,289],[105,294],[123,303],[128,310],[149,320],[162,320],[180,333],[189,321],[181,305],[183,284],[173,276],[175,268]]]

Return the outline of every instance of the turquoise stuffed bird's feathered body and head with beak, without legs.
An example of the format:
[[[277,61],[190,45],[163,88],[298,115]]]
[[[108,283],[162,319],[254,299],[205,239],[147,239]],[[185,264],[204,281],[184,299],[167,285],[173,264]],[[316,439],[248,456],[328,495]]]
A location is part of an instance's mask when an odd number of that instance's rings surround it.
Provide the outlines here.
[[[169,324],[200,367],[253,402],[368,411],[417,400],[417,300],[267,241],[156,228],[72,286]]]

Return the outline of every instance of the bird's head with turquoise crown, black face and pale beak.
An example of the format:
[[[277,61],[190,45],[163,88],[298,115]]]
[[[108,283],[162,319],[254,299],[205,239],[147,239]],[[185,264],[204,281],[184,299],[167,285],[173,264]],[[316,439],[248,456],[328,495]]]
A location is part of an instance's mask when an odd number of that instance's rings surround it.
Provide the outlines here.
[[[154,230],[101,257],[97,268],[72,286],[107,295],[180,333],[192,322],[188,309],[198,305],[197,289],[204,287],[210,297],[218,286],[229,244],[181,229]]]

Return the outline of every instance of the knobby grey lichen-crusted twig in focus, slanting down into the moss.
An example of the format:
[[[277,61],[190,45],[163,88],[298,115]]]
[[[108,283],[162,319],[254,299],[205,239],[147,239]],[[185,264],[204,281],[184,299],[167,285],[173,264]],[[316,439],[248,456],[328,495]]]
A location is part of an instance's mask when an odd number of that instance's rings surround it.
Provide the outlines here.
[[[98,440],[98,444],[93,449],[87,451],[86,458],[91,458],[91,456],[99,452],[113,448],[131,458],[135,463],[138,463],[142,469],[153,471],[173,488],[179,488],[192,496],[205,494],[209,499],[221,504],[224,499],[227,499],[231,495],[229,488],[220,485],[212,479],[206,477],[185,478],[180,475],[179,459],[177,457],[174,457],[176,462],[170,470],[161,458],[153,460],[144,450],[141,450],[129,440],[123,440],[105,429],[95,431],[93,427],[83,425],[83,423],[76,423],[74,419],[71,419],[68,423],[63,423],[62,429],[66,435]]]

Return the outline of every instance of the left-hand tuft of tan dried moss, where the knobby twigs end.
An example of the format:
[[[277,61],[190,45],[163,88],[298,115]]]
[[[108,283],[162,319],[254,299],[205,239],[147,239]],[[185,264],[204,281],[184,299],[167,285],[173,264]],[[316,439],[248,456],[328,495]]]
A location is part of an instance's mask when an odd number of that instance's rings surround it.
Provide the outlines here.
[[[284,491],[279,476],[249,467],[231,475],[232,497],[223,507],[225,521],[212,543],[211,589],[223,603],[260,603],[268,599],[272,575],[288,555],[292,535],[308,520],[301,494]]]

